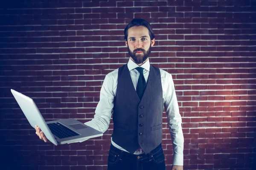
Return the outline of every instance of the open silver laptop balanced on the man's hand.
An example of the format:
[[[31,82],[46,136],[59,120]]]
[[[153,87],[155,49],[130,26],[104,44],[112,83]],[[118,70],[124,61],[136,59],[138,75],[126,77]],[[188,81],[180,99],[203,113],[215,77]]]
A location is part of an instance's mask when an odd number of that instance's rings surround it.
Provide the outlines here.
[[[34,128],[35,125],[38,125],[47,139],[55,145],[79,142],[103,135],[102,132],[84,125],[76,119],[60,119],[45,122],[33,99],[13,89],[11,89],[11,92],[30,125]]]

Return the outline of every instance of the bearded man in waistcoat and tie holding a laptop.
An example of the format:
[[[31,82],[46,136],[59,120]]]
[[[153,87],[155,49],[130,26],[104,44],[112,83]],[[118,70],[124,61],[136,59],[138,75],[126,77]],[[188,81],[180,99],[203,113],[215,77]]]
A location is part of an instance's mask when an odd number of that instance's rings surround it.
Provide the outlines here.
[[[85,124],[104,133],[113,113],[108,170],[165,170],[161,145],[164,106],[174,150],[172,170],[183,170],[184,139],[172,76],[148,60],[155,42],[151,25],[134,19],[124,33],[131,57],[126,65],[106,75],[94,119]],[[36,130],[47,142],[40,128]]]

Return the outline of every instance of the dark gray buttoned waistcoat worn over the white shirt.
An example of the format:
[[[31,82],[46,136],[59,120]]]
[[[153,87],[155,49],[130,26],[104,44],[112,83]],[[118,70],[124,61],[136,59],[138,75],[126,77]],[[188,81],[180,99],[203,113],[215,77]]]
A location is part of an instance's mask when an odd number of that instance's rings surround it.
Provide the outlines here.
[[[130,153],[140,146],[145,154],[162,142],[163,89],[159,68],[150,65],[140,101],[127,64],[118,70],[113,108],[113,142]]]

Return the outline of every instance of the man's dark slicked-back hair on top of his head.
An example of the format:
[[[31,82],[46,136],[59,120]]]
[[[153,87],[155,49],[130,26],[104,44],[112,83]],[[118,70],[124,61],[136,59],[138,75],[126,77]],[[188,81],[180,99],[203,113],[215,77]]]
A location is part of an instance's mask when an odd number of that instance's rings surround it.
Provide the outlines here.
[[[128,29],[134,26],[145,26],[146,28],[148,28],[148,32],[149,32],[149,36],[150,39],[153,40],[154,39],[154,33],[153,33],[153,29],[150,25],[150,23],[148,23],[148,21],[144,20],[144,19],[133,19],[131,21],[131,23],[129,23],[126,27],[125,27],[125,41],[127,41],[127,37],[128,37]]]

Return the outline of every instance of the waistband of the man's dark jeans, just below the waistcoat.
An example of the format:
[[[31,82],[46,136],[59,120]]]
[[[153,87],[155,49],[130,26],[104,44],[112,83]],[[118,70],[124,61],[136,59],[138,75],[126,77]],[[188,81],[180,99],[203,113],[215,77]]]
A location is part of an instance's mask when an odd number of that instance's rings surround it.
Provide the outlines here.
[[[112,143],[110,145],[110,150],[112,152],[116,153],[120,157],[126,157],[126,158],[132,159],[132,160],[142,160],[145,158],[151,159],[151,156],[154,155],[155,153],[159,152],[161,149],[162,149],[162,144],[159,144],[156,148],[151,150],[148,154],[142,153],[142,154],[137,155],[137,154],[132,154],[132,153],[128,153],[123,150],[120,150],[120,149],[114,147]]]

